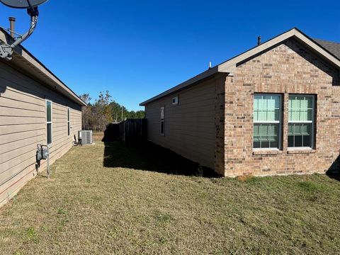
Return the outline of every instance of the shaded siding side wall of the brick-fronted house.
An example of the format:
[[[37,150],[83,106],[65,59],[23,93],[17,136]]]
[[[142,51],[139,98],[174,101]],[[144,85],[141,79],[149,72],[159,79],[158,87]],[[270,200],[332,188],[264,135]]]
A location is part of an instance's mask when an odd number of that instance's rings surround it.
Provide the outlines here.
[[[179,96],[173,106],[172,98]],[[145,106],[148,140],[212,169],[215,167],[215,79]],[[165,134],[160,134],[165,106]]]

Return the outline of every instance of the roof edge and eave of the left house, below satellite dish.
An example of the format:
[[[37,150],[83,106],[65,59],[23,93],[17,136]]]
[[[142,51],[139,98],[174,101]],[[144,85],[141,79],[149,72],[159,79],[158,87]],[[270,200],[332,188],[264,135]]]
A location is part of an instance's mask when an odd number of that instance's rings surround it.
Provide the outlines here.
[[[13,40],[11,35],[8,35],[6,30],[0,28],[0,42],[9,43]],[[22,45],[16,46],[13,51],[12,60],[7,62],[11,67],[20,69],[21,71],[28,74],[33,79],[37,79],[42,84],[58,91],[60,94],[66,96],[67,98],[74,101],[74,103],[79,104],[79,106],[87,106],[84,101],[77,96],[77,94],[69,89],[69,87],[64,84],[55,74],[53,74],[47,67],[45,67],[42,62],[40,62],[36,57],[34,57],[26,48]],[[6,60],[3,60],[6,61]]]

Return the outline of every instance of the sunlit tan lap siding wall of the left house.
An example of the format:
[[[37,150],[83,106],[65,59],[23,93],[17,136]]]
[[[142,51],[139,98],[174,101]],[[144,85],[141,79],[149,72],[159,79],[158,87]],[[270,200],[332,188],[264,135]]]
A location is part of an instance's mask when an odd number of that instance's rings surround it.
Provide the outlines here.
[[[37,145],[46,144],[45,98],[52,101],[53,163],[72,147],[73,136],[81,130],[81,106],[0,62],[0,207],[37,174]],[[46,167],[47,162],[41,163],[38,171]]]

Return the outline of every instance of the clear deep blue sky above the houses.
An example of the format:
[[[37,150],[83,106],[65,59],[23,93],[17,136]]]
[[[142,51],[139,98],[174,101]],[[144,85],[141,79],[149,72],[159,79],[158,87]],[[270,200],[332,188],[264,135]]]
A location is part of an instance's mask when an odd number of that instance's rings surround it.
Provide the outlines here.
[[[97,4],[94,6],[93,4]],[[25,32],[24,10],[0,5]],[[110,91],[129,110],[256,45],[297,27],[340,42],[340,1],[50,0],[24,46],[77,94]]]

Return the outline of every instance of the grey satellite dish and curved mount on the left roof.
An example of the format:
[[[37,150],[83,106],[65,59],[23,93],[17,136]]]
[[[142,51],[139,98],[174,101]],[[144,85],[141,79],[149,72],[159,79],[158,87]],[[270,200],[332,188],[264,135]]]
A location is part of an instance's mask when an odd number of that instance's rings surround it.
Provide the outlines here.
[[[4,43],[0,45],[0,57],[4,58],[5,60],[11,60],[12,55],[13,55],[13,49],[20,45],[22,42],[27,40],[30,35],[33,34],[35,27],[37,26],[38,23],[38,16],[39,16],[39,11],[38,11],[38,6],[40,4],[45,3],[47,0],[0,0],[2,4],[5,4],[6,6],[9,6],[11,8],[26,8],[27,13],[30,16],[30,28],[28,31],[21,35],[16,33],[15,31],[12,31],[8,28],[4,28],[8,32],[11,32],[16,36],[14,39],[14,42],[9,45],[8,43]]]

